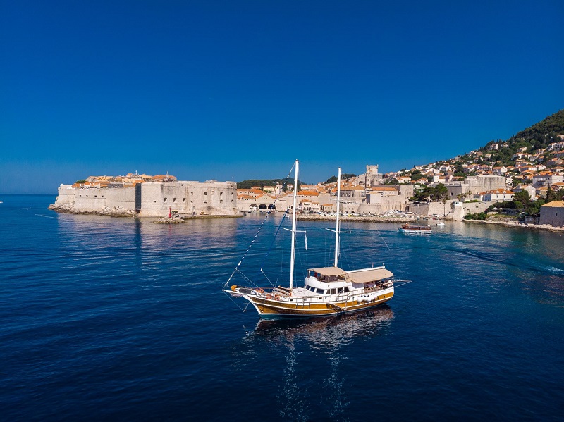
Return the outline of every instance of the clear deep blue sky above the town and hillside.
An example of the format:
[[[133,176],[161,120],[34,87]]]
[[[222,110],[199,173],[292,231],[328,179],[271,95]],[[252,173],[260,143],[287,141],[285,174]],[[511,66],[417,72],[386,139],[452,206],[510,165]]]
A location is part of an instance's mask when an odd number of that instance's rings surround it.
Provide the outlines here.
[[[0,193],[448,159],[564,108],[564,1],[2,1]]]

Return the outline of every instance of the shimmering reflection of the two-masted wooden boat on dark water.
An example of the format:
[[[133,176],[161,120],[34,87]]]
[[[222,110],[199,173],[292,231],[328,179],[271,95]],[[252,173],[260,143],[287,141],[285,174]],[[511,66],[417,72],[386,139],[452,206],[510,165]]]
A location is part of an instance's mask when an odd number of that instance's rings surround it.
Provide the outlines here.
[[[243,342],[250,349],[266,343],[270,357],[276,355],[271,371],[278,373],[271,379],[279,380],[276,405],[281,418],[345,421],[350,399],[344,384],[354,378],[343,368],[351,364],[347,351],[355,341],[386,335],[392,320],[388,305],[331,318],[259,320]],[[319,378],[321,383],[308,382]]]

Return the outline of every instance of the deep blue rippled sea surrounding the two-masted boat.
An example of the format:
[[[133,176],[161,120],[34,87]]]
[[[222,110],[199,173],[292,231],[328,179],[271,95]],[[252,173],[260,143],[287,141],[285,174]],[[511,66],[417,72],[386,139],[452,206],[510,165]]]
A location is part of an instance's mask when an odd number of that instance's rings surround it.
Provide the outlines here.
[[[0,199],[2,421],[563,419],[561,233],[345,224],[343,268],[410,283],[372,311],[260,321],[221,287],[264,214],[160,225]],[[245,277],[287,285],[280,225],[266,220]],[[334,242],[299,225],[298,284]]]

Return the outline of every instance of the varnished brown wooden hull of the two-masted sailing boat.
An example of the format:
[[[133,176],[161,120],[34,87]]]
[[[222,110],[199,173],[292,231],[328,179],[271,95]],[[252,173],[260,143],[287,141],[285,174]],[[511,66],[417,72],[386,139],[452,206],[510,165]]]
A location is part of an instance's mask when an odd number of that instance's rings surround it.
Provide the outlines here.
[[[262,297],[246,296],[249,302],[255,306],[262,318],[273,318],[278,316],[331,316],[349,312],[361,311],[362,309],[374,308],[388,302],[393,297],[393,290],[382,293],[371,302],[288,302],[286,300],[266,299]]]

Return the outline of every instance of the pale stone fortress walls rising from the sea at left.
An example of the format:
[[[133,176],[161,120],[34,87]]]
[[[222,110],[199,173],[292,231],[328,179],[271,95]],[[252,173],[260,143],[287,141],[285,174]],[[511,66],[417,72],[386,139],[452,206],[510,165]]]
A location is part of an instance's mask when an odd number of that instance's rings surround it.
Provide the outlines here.
[[[237,216],[235,182],[142,182],[134,186],[59,186],[49,209],[109,216]]]

